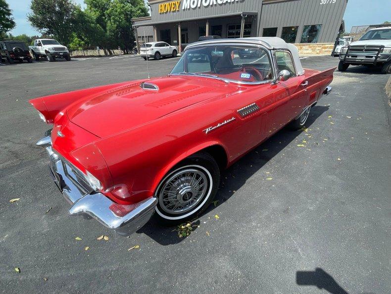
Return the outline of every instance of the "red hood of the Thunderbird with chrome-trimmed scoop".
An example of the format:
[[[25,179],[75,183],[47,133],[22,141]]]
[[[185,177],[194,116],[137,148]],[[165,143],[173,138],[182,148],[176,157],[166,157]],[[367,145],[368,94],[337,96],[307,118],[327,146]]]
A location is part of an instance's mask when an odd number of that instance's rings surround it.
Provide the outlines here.
[[[233,93],[238,86],[210,78],[170,76],[130,82],[71,104],[70,121],[100,138],[114,135],[217,96]]]

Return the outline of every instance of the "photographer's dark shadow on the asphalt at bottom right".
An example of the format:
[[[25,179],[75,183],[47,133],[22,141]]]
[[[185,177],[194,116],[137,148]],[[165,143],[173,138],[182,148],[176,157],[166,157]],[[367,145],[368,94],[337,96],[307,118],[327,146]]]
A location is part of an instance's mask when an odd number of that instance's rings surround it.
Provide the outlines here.
[[[330,274],[321,268],[316,268],[314,271],[297,271],[296,284],[299,286],[316,286],[319,290],[324,289],[330,294],[349,294]]]

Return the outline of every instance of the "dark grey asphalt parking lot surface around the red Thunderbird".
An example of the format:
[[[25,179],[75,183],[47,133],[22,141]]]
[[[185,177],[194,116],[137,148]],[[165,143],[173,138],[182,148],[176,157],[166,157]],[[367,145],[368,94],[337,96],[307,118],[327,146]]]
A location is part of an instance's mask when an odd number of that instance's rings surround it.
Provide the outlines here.
[[[151,60],[150,75],[177,60]],[[307,131],[283,129],[224,172],[189,236],[152,220],[126,238],[67,215],[35,146],[49,126],[27,101],[145,78],[146,61],[39,61],[0,74],[0,293],[390,293],[390,75],[336,71]]]

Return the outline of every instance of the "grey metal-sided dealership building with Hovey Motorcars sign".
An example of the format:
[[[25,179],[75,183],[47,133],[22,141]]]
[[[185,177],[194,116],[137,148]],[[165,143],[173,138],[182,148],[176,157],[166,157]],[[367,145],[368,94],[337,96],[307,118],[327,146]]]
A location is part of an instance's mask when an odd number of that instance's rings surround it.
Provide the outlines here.
[[[347,0],[149,0],[150,16],[133,19],[137,45],[179,46],[200,36],[280,37],[288,43],[334,43]]]

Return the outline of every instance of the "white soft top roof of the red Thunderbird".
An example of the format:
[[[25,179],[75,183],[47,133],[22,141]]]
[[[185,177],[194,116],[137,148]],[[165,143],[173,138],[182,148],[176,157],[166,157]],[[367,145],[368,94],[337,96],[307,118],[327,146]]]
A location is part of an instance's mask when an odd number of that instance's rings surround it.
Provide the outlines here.
[[[198,45],[216,44],[216,43],[243,43],[243,44],[256,44],[263,45],[269,50],[276,49],[287,49],[292,53],[293,63],[296,67],[297,74],[301,75],[304,73],[304,69],[301,66],[300,59],[298,57],[298,49],[296,46],[290,43],[286,43],[283,39],[278,37],[253,37],[253,38],[238,38],[238,39],[215,39],[205,40],[196,43],[189,44],[185,51]]]

